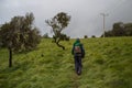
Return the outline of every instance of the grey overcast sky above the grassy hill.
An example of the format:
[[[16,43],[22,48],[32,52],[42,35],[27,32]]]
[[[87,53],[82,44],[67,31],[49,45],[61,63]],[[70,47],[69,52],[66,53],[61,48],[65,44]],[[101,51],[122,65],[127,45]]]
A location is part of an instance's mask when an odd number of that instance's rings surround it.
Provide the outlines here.
[[[34,24],[41,34],[52,35],[45,20],[66,12],[72,20],[64,33],[72,37],[100,36],[103,32],[100,13],[109,14],[106,16],[106,30],[111,30],[114,22],[132,22],[131,8],[132,0],[0,0],[0,24],[15,15],[33,12]]]

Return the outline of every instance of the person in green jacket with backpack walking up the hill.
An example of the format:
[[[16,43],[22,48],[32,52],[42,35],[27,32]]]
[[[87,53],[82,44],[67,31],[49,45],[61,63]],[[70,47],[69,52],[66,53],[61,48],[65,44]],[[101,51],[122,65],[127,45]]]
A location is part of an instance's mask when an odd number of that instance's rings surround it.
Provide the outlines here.
[[[77,38],[76,42],[74,43],[72,54],[74,55],[75,59],[75,72],[77,73],[77,75],[80,75],[82,67],[81,58],[85,57],[85,50],[79,38]]]

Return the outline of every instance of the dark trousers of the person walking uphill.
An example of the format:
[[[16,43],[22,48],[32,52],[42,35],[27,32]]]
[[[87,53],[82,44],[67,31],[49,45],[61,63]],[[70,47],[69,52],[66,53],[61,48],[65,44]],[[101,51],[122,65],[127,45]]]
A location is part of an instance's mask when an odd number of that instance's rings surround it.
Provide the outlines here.
[[[81,56],[75,56],[75,70],[78,75],[81,74]]]

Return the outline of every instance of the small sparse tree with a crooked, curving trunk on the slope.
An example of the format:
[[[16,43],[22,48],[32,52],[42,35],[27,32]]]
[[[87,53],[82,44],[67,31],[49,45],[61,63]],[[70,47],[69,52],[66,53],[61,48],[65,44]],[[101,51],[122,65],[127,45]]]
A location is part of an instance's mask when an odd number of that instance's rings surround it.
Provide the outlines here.
[[[65,12],[57,13],[51,20],[46,20],[45,22],[53,29],[54,32],[54,42],[57,44],[58,47],[65,50],[63,45],[59,44],[62,41],[62,31],[69,24],[70,16],[67,15]]]

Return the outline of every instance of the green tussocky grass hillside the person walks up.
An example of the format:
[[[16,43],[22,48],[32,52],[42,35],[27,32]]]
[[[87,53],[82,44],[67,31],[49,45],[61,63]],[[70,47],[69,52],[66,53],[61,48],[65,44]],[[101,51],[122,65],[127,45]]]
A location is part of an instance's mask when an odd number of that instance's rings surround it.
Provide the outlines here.
[[[0,48],[0,88],[132,88],[132,37],[85,38],[82,74],[77,76],[70,50],[75,40],[42,40],[37,50],[13,54],[8,67],[8,51]]]

